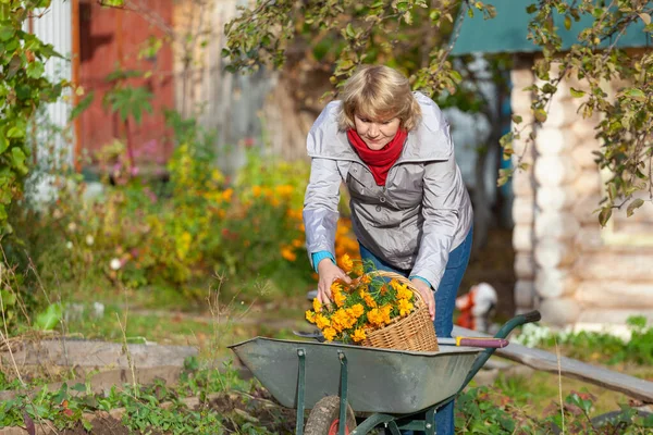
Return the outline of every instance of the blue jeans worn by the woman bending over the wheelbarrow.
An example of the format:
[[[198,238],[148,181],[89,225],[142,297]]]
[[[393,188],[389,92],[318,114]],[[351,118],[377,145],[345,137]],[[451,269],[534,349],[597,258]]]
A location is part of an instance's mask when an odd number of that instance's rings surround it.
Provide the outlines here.
[[[465,275],[465,271],[467,270],[467,263],[469,262],[472,236],[473,228],[470,228],[465,240],[449,253],[444,275],[440,281],[438,291],[435,291],[435,320],[433,321],[433,325],[435,326],[435,334],[439,337],[452,336],[456,296],[463,281],[463,275]],[[408,277],[410,271],[393,268],[374,257],[365,246],[358,245],[360,248],[360,258],[364,262],[368,264],[371,262],[377,270],[396,272]],[[440,408],[435,413],[435,430],[438,435],[454,435],[453,400],[443,408]],[[410,434],[410,432],[404,432],[404,434]]]

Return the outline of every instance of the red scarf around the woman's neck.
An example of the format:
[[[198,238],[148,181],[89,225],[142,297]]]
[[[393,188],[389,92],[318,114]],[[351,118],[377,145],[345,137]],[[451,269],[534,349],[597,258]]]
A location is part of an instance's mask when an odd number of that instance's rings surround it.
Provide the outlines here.
[[[358,136],[355,129],[350,128],[347,130],[349,144],[352,144],[360,160],[368,165],[379,186],[385,186],[387,171],[390,171],[402,154],[407,136],[408,132],[398,129],[395,137],[385,147],[374,151],[368,148],[367,144]]]

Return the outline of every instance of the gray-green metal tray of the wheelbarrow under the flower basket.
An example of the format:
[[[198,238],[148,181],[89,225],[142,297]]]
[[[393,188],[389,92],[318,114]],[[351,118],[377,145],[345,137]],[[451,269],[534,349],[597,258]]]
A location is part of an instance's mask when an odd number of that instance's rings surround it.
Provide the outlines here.
[[[438,352],[256,337],[230,348],[284,407],[297,408],[297,350],[306,355],[306,408],[338,395],[347,359],[347,399],[356,412],[411,413],[439,403],[463,386],[483,349],[442,346]]]

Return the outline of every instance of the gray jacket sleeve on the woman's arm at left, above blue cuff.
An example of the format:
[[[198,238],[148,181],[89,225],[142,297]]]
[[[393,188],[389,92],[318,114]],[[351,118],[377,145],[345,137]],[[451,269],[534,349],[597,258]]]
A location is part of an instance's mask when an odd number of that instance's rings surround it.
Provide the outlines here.
[[[312,158],[310,181],[304,197],[304,227],[306,250],[312,264],[312,254],[328,251],[335,258],[335,228],[337,225],[340,186],[342,177],[335,160]]]

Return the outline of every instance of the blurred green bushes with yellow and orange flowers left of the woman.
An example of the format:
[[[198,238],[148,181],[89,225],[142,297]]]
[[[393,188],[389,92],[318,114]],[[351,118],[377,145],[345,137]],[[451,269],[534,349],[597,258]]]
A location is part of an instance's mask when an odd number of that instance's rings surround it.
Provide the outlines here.
[[[174,112],[167,120],[175,150],[161,171],[165,181],[140,174],[120,140],[98,154],[107,174],[98,197],[85,198],[78,175],[52,173],[47,179],[57,198],[16,210],[24,240],[11,248],[10,263],[25,271],[32,261],[46,288],[163,285],[204,298],[218,273],[226,274],[225,297],[305,291],[311,278],[300,209],[308,165],[250,150],[227,179],[217,167],[212,133]]]

